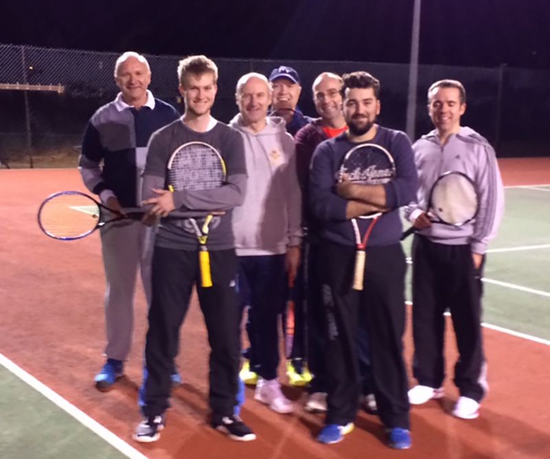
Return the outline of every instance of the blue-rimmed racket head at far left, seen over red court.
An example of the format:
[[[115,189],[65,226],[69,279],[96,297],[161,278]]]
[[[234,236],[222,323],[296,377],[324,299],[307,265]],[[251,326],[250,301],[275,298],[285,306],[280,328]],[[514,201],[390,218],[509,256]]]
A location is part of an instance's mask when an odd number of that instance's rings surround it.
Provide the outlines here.
[[[101,208],[97,201],[79,191],[62,191],[41,203],[38,223],[44,234],[58,240],[88,236],[100,225]]]

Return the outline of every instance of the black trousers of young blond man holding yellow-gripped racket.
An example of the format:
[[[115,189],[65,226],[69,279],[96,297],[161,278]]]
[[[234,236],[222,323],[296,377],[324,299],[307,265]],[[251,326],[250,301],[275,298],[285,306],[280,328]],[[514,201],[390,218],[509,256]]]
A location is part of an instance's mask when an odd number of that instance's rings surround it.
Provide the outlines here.
[[[240,307],[236,295],[238,261],[233,249],[210,251],[212,287],[201,287],[199,255],[155,247],[153,301],[149,309],[145,359],[148,376],[142,405],[147,417],[164,413],[170,396],[170,373],[177,355],[179,328],[187,313],[194,284],[210,344],[210,390],[214,415],[231,416],[238,391]]]

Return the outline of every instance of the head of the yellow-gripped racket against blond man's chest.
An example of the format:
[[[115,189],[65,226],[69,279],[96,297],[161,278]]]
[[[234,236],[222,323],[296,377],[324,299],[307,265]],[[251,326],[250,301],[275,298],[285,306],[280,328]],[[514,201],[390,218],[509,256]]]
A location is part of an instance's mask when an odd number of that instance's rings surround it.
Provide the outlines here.
[[[210,190],[225,182],[227,171],[220,153],[205,142],[187,142],[168,160],[168,187],[174,191]]]

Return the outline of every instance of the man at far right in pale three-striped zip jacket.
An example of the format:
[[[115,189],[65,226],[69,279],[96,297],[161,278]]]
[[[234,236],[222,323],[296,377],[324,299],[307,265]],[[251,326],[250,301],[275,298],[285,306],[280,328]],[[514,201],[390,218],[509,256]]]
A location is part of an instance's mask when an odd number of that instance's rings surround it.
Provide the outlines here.
[[[481,336],[481,277],[487,243],[503,215],[503,183],[489,142],[460,125],[465,89],[456,80],[435,82],[428,90],[428,110],[434,131],[412,146],[419,172],[417,203],[405,210],[417,229],[412,244],[413,370],[419,384],[409,393],[414,405],[443,396],[445,364],[443,335],[450,310],[459,349],[454,383],[460,397],[452,414],[478,416],[487,393],[486,363]],[[427,207],[430,190],[444,172],[463,172],[475,183],[478,212],[460,227],[433,223]]]

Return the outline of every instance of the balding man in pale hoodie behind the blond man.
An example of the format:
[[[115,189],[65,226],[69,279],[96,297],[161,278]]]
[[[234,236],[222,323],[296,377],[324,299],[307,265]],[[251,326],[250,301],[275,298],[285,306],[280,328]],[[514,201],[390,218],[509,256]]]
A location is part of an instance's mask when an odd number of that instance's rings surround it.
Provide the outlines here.
[[[277,378],[277,317],[283,311],[289,278],[296,276],[302,238],[302,198],[295,147],[281,117],[267,117],[271,87],[261,74],[236,85],[237,114],[230,122],[243,136],[248,192],[233,214],[239,293],[250,306],[250,366],[259,374],[256,400],[275,412],[292,412]]]

